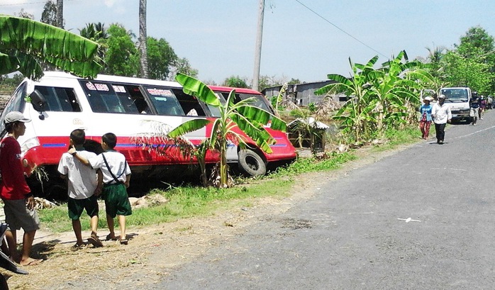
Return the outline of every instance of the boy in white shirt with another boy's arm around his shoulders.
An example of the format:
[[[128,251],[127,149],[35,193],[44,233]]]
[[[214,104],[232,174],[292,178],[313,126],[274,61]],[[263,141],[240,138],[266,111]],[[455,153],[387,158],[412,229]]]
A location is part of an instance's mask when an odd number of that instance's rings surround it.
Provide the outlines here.
[[[90,159],[96,157],[93,152],[86,151],[83,147],[86,135],[84,130],[76,129],[70,133],[70,146],[77,150],[77,154]],[[75,152],[74,154],[75,155]],[[67,188],[69,199],[67,207],[69,208],[69,218],[72,220],[72,229],[76,235],[77,242],[74,248],[80,248],[84,245],[81,234],[81,217],[82,211],[91,217],[91,236],[88,242],[94,247],[102,247],[103,244],[96,234],[98,228],[98,200],[97,196],[101,193],[101,170],[96,173],[95,169],[82,164],[77,158],[69,153],[64,153],[58,164],[58,172],[63,179],[68,179]]]

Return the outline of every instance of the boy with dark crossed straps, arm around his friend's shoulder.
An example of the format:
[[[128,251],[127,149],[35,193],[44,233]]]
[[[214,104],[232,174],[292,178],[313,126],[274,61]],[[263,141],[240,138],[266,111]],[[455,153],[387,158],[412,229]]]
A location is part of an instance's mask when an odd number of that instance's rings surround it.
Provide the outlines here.
[[[101,193],[105,200],[106,221],[109,225],[110,234],[106,236],[107,240],[117,240],[114,231],[113,218],[118,216],[118,225],[121,229],[121,235],[118,240],[122,245],[127,245],[126,238],[126,216],[132,214],[130,209],[127,188],[130,182],[130,168],[126,162],[126,157],[113,150],[117,144],[117,137],[113,133],[106,133],[101,137],[101,147],[105,152],[87,160],[79,156],[74,147],[69,153],[74,153],[75,157],[84,164],[94,169],[101,169],[103,173],[103,189]]]

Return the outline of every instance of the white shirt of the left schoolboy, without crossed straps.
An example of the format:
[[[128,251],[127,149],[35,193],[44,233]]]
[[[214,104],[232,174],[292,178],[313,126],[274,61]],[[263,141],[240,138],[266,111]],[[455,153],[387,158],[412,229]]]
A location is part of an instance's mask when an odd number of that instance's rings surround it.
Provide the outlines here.
[[[86,150],[77,150],[77,154],[89,160],[96,154]],[[87,199],[94,194],[98,185],[96,170],[82,164],[76,157],[65,152],[60,158],[58,172],[67,176],[67,187],[71,199]]]

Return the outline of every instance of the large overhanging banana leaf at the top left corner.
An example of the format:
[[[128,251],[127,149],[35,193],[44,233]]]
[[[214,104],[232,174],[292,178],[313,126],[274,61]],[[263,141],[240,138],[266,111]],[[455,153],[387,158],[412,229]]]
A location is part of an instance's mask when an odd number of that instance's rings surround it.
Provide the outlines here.
[[[40,62],[79,77],[96,77],[102,67],[98,43],[28,18],[0,15],[0,74],[43,76]]]

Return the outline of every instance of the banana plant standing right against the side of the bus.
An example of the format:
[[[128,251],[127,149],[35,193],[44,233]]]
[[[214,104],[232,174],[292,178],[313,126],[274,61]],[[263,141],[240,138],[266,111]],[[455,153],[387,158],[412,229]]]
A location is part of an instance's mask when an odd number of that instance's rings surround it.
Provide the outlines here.
[[[211,125],[211,135],[207,137],[207,147],[220,153],[220,184],[221,187],[228,186],[227,166],[227,144],[228,142],[246,147],[245,135],[251,138],[261,150],[271,153],[270,145],[274,144],[274,138],[267,132],[265,126],[271,122],[270,127],[274,130],[285,132],[287,125],[282,119],[274,116],[261,108],[252,106],[255,99],[245,99],[234,104],[235,90],[230,91],[225,104],[221,104],[218,96],[206,84],[189,77],[187,74],[177,74],[177,82],[184,87],[184,93],[196,96],[206,104],[215,106],[220,111],[220,117],[213,120],[193,119],[182,123],[168,133],[169,138],[178,138],[194,130],[199,130]],[[245,135],[238,133],[239,128]]]

